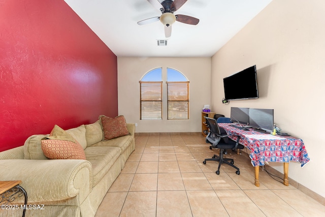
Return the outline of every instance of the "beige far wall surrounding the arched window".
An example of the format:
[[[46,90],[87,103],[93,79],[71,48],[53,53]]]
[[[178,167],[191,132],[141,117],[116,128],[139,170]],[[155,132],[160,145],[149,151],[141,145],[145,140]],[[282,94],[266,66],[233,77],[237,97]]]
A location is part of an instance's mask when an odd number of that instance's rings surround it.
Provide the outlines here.
[[[136,132],[201,132],[201,111],[211,100],[211,58],[118,57],[118,113],[138,123]],[[163,120],[140,120],[139,81],[150,70],[163,68]],[[167,120],[166,68],[189,80],[189,120]]]

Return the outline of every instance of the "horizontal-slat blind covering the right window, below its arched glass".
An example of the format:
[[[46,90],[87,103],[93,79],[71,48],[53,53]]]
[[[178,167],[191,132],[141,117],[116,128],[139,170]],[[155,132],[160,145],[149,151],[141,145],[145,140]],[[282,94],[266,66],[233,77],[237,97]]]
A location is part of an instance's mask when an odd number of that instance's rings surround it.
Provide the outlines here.
[[[167,118],[189,119],[189,81],[167,81]]]

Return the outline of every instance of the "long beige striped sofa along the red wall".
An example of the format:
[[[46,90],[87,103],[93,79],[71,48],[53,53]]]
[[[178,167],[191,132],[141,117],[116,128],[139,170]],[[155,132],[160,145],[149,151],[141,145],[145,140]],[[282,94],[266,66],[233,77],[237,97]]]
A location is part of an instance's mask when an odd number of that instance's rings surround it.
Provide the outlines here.
[[[100,121],[67,130],[83,146],[86,160],[49,160],[41,149],[46,135],[30,136],[23,146],[0,152],[0,180],[22,180],[29,205],[26,216],[94,216],[108,189],[135,150],[135,125],[129,135],[102,141]],[[22,204],[23,197],[12,204]],[[35,206],[37,207],[37,206]],[[0,210],[21,216],[22,210]]]

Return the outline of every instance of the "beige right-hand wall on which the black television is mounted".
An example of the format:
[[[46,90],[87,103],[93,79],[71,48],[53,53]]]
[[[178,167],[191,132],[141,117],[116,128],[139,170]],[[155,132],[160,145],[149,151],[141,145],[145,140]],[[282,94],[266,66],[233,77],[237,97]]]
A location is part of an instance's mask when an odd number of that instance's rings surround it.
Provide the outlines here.
[[[325,1],[274,0],[213,57],[211,103],[230,115],[231,107],[273,108],[274,121],[303,139],[311,162],[289,164],[289,177],[325,197]],[[222,78],[257,68],[259,99],[223,105]],[[271,164],[283,172],[282,166]]]

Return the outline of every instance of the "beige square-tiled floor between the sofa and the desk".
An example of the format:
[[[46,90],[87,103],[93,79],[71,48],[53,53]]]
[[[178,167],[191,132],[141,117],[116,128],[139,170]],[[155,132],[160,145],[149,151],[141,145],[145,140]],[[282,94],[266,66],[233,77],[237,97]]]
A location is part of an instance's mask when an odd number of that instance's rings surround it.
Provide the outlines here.
[[[217,150],[199,134],[140,134],[101,203],[101,216],[325,216],[325,206],[293,186],[285,186],[254,168],[246,153],[229,151],[236,169],[202,162]],[[230,154],[231,153],[231,154]]]

